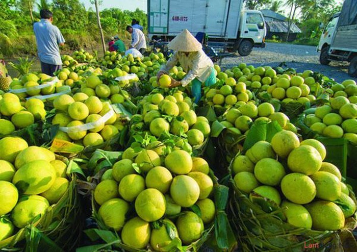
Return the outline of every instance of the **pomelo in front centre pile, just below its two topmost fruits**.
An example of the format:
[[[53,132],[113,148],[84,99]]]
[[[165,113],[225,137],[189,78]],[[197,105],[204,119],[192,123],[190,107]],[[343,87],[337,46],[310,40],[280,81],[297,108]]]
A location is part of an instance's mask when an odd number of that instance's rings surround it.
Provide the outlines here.
[[[145,178],[147,188],[155,188],[162,193],[166,193],[169,190],[171,182],[171,172],[162,166],[150,169]]]

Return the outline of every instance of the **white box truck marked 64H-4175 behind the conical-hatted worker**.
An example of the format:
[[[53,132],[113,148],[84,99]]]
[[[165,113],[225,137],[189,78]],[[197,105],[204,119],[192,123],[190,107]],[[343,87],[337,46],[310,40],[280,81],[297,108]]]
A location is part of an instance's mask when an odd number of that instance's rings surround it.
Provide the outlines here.
[[[171,40],[183,29],[208,36],[241,56],[265,47],[266,26],[260,11],[242,10],[243,0],[148,0],[150,39]]]

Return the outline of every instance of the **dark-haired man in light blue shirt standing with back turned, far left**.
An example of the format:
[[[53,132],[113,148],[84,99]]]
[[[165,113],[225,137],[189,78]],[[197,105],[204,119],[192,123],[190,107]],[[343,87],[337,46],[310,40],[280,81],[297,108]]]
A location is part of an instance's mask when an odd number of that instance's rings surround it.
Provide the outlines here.
[[[62,68],[59,45],[64,45],[60,30],[52,24],[53,14],[49,10],[40,11],[41,20],[34,23],[38,57],[43,73],[53,76]]]

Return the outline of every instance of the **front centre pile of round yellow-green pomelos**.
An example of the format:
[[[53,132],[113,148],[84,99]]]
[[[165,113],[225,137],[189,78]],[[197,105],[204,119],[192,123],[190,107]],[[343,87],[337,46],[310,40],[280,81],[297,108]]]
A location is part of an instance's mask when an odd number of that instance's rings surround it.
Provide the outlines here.
[[[209,169],[204,159],[180,149],[162,159],[148,149],[123,158],[105,171],[94,190],[98,219],[132,248],[164,251],[178,239],[189,245],[215,216]]]

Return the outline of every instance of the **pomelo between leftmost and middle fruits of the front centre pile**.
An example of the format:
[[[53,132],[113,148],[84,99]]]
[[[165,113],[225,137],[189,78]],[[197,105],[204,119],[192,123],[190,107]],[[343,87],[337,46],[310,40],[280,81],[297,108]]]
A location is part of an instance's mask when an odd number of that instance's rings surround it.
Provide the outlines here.
[[[145,179],[138,174],[129,174],[120,180],[119,194],[126,201],[133,201],[145,189]]]

